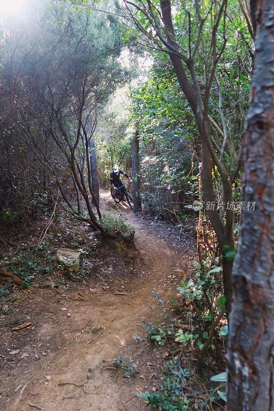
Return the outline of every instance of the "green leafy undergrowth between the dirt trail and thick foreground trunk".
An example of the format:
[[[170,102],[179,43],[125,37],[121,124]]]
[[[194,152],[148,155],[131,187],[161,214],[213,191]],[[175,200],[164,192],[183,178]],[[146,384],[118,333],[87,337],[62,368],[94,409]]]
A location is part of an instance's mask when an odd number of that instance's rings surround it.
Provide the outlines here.
[[[149,409],[225,409],[226,377],[220,371],[225,369],[228,327],[221,271],[221,267],[198,266],[193,277],[177,287],[176,298],[173,296],[170,303],[153,290],[162,321],[157,325],[144,321],[144,332],[134,336],[135,341],[153,345],[168,359],[156,390],[138,394]]]

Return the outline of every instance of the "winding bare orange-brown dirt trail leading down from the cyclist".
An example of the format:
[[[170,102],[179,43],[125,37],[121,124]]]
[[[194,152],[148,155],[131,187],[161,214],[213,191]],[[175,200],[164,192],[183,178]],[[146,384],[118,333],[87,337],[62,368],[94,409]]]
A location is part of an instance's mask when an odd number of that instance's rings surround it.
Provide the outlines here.
[[[112,207],[108,192],[101,192],[101,202],[106,209]],[[160,320],[152,289],[171,293],[179,281],[173,278],[174,270],[178,266],[188,269],[193,249],[181,246],[178,238],[161,238],[155,225],[147,225],[123,204],[116,208],[135,227],[136,247],[146,263],[144,270],[148,266],[151,270],[130,284],[132,292],[127,295],[104,290],[101,284],[92,290],[85,286],[80,293],[54,296],[43,289],[32,295],[36,309],[46,302],[47,310],[41,312],[39,327],[33,331],[35,343],[29,334],[25,337],[20,356],[26,352],[28,357],[11,368],[10,375],[2,375],[3,411],[147,409],[136,394],[153,384],[150,374],[155,353],[136,344],[133,335],[139,332],[143,319]],[[130,381],[109,368],[119,354],[131,356],[138,365],[139,373]]]

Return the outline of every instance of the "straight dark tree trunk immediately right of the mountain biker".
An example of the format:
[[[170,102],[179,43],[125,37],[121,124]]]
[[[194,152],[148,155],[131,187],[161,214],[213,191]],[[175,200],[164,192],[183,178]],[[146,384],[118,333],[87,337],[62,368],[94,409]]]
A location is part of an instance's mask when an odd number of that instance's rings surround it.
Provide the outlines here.
[[[136,127],[132,140],[132,177],[133,177],[133,197],[134,197],[134,212],[142,211],[142,203],[140,197],[140,162],[139,162],[139,139],[138,127]]]

